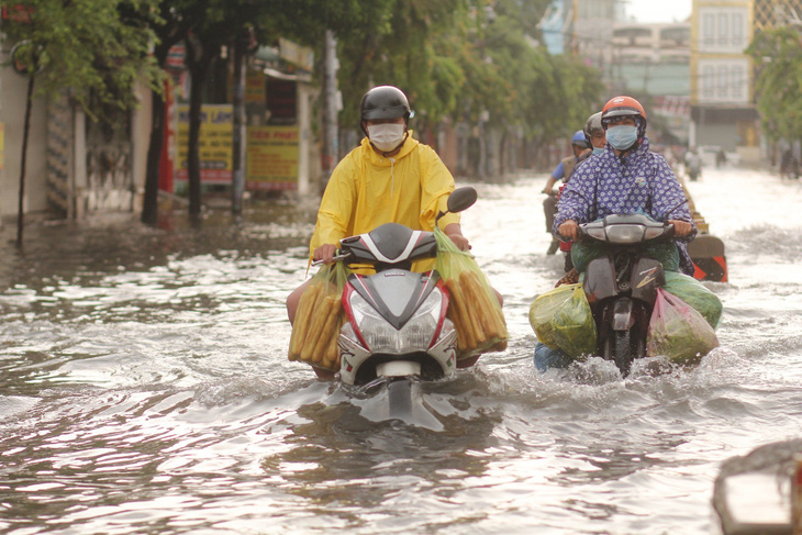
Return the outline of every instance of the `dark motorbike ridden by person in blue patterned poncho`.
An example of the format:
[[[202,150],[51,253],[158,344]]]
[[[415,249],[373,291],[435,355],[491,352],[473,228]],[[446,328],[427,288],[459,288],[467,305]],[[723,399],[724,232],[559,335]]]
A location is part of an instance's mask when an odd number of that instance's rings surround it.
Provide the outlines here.
[[[608,215],[579,225],[579,239],[603,243],[606,254],[588,264],[582,288],[593,312],[597,355],[613,360],[623,376],[646,355],[646,336],[665,286],[662,265],[644,247],[673,237],[673,225],[643,214]]]

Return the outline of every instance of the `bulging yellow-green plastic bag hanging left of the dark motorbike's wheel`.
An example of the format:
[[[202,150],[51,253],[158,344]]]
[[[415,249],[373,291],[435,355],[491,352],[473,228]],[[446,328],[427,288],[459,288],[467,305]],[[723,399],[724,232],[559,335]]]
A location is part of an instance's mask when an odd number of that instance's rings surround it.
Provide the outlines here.
[[[581,283],[562,285],[538,296],[530,306],[537,339],[571,357],[595,352],[595,323]]]

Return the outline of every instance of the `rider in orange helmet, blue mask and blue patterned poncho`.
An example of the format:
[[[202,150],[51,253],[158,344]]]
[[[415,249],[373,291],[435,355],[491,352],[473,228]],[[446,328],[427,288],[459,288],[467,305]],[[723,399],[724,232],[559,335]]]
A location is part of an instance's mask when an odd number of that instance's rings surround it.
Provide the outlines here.
[[[693,275],[688,243],[697,234],[688,200],[666,158],[649,151],[646,112],[632,97],[615,97],[602,110],[608,147],[582,165],[566,186],[555,216],[554,232],[577,239],[579,223],[614,213],[645,212],[675,226],[673,244],[656,246],[654,256],[669,271]],[[573,244],[571,256],[582,271],[601,252]]]

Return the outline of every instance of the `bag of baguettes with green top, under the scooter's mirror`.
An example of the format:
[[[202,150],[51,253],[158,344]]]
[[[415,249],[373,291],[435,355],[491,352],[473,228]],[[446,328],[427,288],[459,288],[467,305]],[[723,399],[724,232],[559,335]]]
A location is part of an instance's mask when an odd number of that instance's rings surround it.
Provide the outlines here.
[[[457,331],[457,360],[506,349],[506,321],[474,255],[435,227],[436,268],[448,289],[447,317]]]

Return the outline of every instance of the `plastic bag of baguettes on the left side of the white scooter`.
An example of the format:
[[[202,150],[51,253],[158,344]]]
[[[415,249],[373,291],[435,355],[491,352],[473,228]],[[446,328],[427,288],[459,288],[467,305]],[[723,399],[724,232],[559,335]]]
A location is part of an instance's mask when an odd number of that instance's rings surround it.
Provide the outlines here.
[[[342,263],[323,265],[301,296],[290,336],[290,360],[337,371],[337,336],[345,322],[343,288],[349,269]]]

